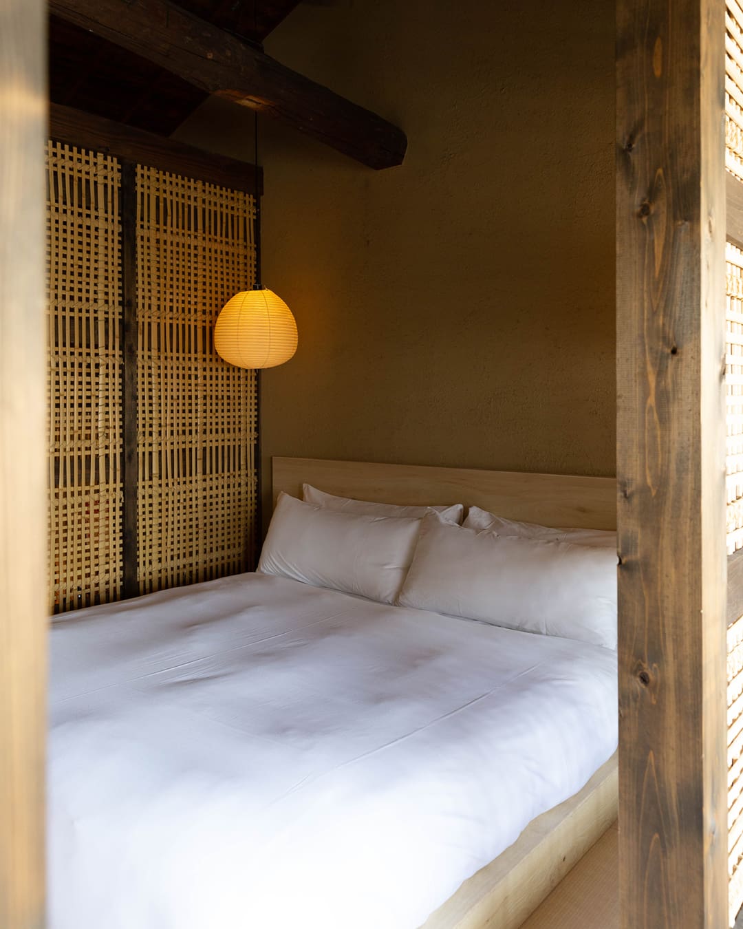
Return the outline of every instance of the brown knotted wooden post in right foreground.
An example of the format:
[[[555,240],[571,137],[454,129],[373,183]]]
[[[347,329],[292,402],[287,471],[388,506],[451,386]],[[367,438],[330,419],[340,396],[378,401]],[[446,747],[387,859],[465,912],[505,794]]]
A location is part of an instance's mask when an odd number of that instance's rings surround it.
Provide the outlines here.
[[[618,0],[623,929],[727,925],[724,0]]]

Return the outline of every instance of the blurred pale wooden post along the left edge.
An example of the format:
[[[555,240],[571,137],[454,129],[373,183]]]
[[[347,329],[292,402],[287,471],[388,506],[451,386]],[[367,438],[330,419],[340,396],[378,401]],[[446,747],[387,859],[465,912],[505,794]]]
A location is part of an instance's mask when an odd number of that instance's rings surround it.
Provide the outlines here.
[[[0,926],[44,923],[46,4],[0,0]]]

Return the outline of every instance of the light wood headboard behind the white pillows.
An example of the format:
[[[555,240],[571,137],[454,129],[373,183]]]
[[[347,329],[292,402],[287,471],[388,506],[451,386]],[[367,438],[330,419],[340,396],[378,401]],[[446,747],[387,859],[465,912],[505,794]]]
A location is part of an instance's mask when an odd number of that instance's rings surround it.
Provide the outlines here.
[[[465,504],[499,516],[583,529],[617,528],[617,481],[516,471],[418,464],[274,458],[273,501],[279,491],[302,496],[302,484],[343,497],[385,504]]]

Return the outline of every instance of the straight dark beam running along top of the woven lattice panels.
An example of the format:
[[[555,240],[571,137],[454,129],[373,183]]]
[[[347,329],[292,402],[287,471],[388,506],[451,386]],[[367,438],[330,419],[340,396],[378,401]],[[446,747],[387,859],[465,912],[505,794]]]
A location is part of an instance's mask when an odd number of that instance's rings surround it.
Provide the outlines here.
[[[163,171],[220,184],[233,190],[254,193],[253,164],[195,149],[172,138],[155,136],[144,129],[115,123],[52,103],[49,107],[49,135],[58,142],[84,149],[105,151],[128,161],[148,164]],[[263,192],[263,170],[258,168],[258,192]]]

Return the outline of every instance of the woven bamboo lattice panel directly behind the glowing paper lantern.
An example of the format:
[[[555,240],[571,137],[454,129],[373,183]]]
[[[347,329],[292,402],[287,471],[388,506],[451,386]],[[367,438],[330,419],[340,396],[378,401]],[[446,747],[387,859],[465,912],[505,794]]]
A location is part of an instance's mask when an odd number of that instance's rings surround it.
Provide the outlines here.
[[[138,547],[142,593],[254,559],[255,373],[213,348],[253,280],[254,201],[137,167]]]

